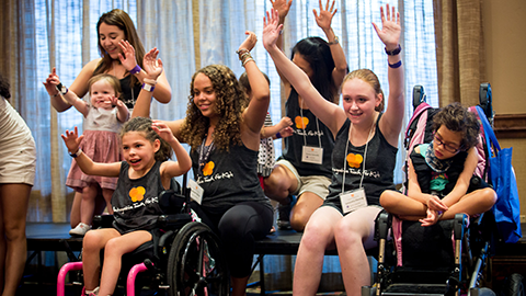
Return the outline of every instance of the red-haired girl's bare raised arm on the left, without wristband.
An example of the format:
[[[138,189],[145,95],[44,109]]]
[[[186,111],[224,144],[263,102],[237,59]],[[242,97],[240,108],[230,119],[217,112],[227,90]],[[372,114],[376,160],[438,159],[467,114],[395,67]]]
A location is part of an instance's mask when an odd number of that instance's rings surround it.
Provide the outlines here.
[[[289,60],[276,46],[281,25],[277,24],[277,11],[266,13],[263,25],[263,45],[274,60],[274,65],[284,77],[288,79],[298,94],[307,102],[310,111],[331,129],[333,135],[338,134],[340,127],[345,123],[346,115],[336,104],[327,101],[316,90],[309,77]]]

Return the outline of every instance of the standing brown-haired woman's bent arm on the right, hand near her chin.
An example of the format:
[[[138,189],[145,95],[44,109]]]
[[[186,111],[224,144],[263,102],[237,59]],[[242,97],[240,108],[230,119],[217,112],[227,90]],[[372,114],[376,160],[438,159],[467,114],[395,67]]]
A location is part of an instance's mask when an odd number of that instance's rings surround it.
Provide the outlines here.
[[[141,69],[137,65],[137,60],[135,59],[134,46],[132,46],[129,42],[124,39],[122,39],[118,45],[123,50],[122,54],[118,54],[118,59],[121,60],[121,64],[126,70],[129,71],[130,75],[134,75],[140,83],[146,83],[146,81],[151,78],[151,75],[146,69]],[[150,49],[150,52],[145,55],[145,59],[148,55],[152,55],[152,53],[156,53],[157,57],[159,50],[157,48]],[[145,60],[142,60],[142,66],[146,68]],[[168,104],[170,100],[172,100],[172,89],[170,88],[170,83],[168,83],[168,79],[163,72],[161,72],[161,75],[157,78],[156,89],[153,90],[153,98],[156,98],[157,101],[163,104]]]

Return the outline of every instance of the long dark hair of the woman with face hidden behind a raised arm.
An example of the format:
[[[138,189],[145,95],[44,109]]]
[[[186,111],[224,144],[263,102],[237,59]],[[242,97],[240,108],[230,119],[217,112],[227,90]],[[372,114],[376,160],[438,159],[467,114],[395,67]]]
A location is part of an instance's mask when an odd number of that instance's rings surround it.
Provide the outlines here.
[[[335,102],[338,98],[338,88],[332,80],[334,70],[334,59],[332,58],[329,44],[320,37],[307,37],[299,41],[293,48],[294,55],[300,54],[312,68],[313,77],[310,79],[312,86],[325,100]]]

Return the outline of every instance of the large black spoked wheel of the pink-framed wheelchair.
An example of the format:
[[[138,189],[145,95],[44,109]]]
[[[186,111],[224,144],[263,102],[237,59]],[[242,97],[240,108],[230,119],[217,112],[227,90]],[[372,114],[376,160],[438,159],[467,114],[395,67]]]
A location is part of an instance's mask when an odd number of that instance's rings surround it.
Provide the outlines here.
[[[229,276],[218,237],[202,223],[186,224],[175,236],[168,262],[170,296],[228,295]]]

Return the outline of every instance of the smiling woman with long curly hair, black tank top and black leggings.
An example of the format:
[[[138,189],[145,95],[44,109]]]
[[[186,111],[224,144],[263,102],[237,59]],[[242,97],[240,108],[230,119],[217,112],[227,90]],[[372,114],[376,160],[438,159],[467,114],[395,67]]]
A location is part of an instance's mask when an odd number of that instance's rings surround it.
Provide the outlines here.
[[[232,295],[245,294],[254,240],[268,234],[273,218],[256,172],[270,88],[250,55],[255,34],[247,34],[237,53],[252,87],[250,102],[232,70],[210,65],[192,77],[186,117],[167,122],[173,135],[192,148],[195,183],[202,189],[201,194],[192,193],[198,201],[192,202],[192,208],[221,239]],[[138,101],[134,116],[148,116],[148,106],[149,101]]]

